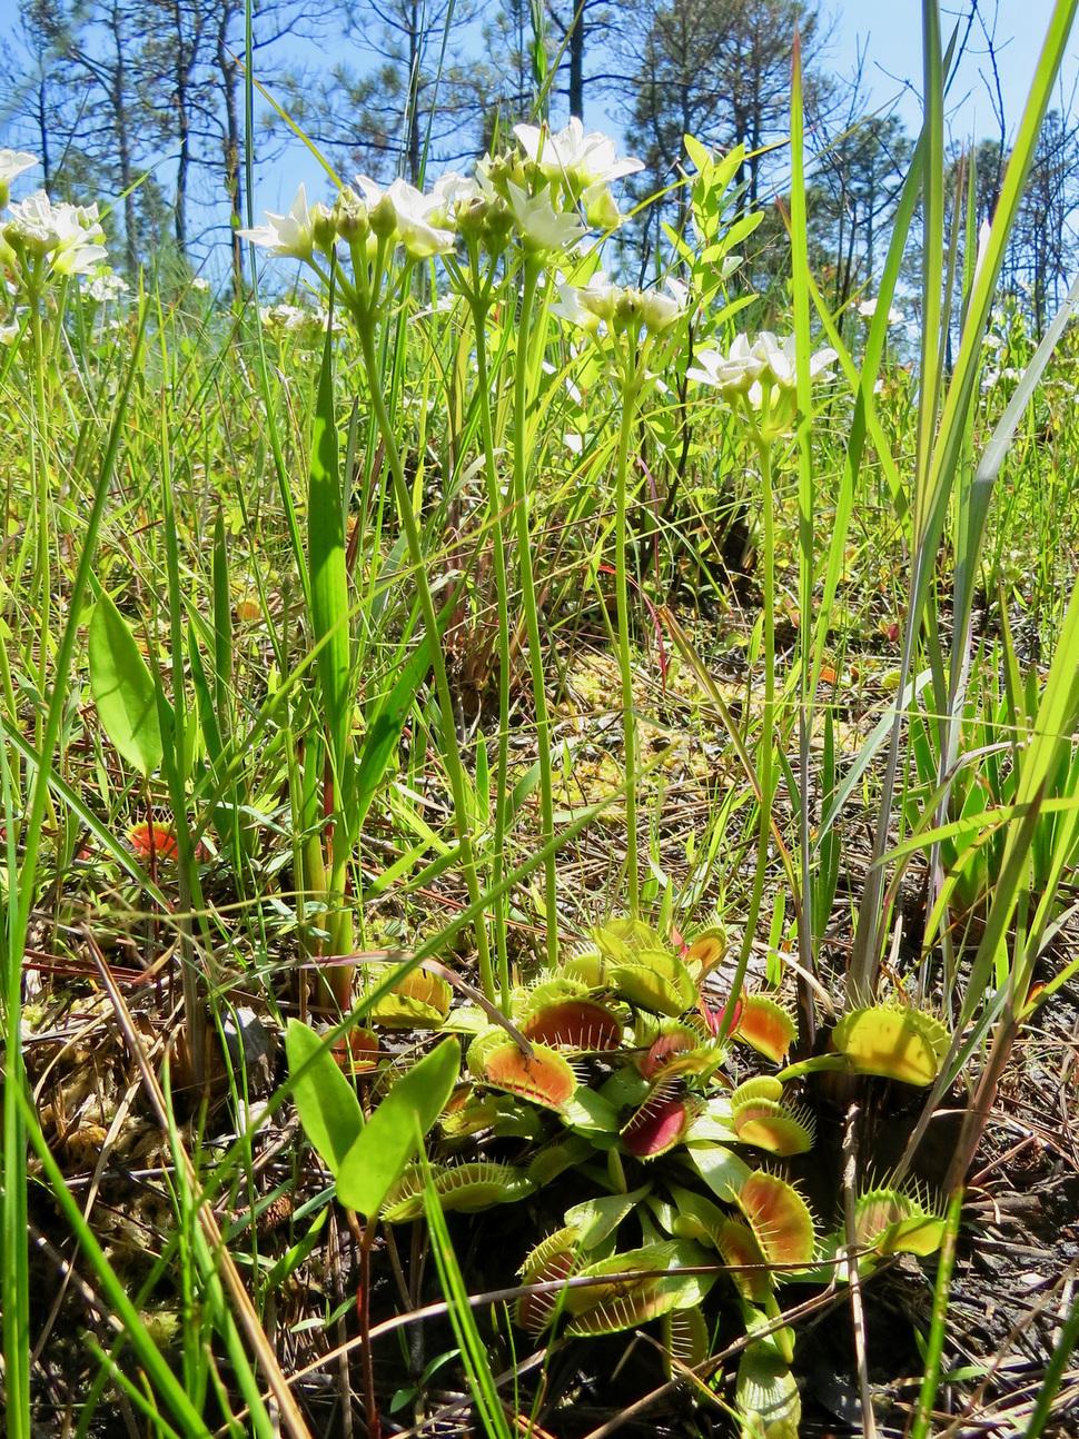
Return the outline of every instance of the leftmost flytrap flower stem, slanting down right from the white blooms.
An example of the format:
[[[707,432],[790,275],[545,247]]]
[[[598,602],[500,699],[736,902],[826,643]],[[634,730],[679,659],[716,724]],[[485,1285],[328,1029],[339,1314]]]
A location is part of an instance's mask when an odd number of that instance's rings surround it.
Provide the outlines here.
[[[460,861],[465,871],[465,884],[468,885],[469,901],[472,905],[478,905],[481,899],[479,879],[476,876],[476,859],[472,849],[472,835],[469,833],[465,773],[462,770],[460,754],[457,751],[457,737],[453,727],[453,695],[450,694],[449,678],[446,675],[446,656],[442,650],[442,636],[439,633],[439,612],[434,607],[434,596],[432,594],[430,584],[427,583],[427,568],[423,555],[423,544],[420,541],[420,530],[416,524],[416,515],[411,508],[409,482],[404,478],[404,466],[401,463],[401,452],[397,448],[397,437],[394,436],[393,426],[390,423],[390,414],[386,409],[386,397],[383,396],[383,387],[380,384],[373,318],[370,315],[357,317],[357,330],[360,332],[360,345],[364,353],[364,367],[367,368],[367,381],[371,391],[371,406],[378,423],[378,430],[383,436],[383,445],[386,446],[386,462],[390,466],[390,475],[393,476],[393,491],[397,499],[397,509],[404,530],[404,540],[409,545],[409,558],[416,574],[416,587],[420,594],[423,623],[432,637],[430,652],[432,666],[434,669],[434,688],[439,695],[439,708],[442,711],[442,753],[446,760],[446,773],[449,776],[450,791],[453,794],[453,820],[457,832],[457,842],[460,843]],[[486,925],[482,911],[476,915],[475,928],[481,989],[488,999],[493,1000],[495,977],[491,970],[491,947],[488,944]]]

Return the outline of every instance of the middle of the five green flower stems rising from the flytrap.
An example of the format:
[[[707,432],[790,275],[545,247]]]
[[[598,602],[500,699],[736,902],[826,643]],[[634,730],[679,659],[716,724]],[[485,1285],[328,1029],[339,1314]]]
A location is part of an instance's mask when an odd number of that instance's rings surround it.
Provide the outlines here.
[[[527,345],[532,324],[535,291],[540,281],[540,260],[525,256],[524,291],[521,295],[521,318],[518,321],[516,363],[514,366],[514,522],[516,528],[516,551],[521,566],[521,603],[525,612],[528,633],[528,668],[532,676],[532,702],[535,705],[535,738],[540,747],[540,825],[541,843],[548,846],[554,839],[554,797],[551,784],[551,721],[547,714],[547,691],[544,688],[544,653],[540,643],[540,612],[535,602],[535,576],[532,573],[532,534],[528,507],[528,366]],[[547,911],[547,961],[558,963],[558,871],[555,850],[548,849],[544,863],[544,908]]]

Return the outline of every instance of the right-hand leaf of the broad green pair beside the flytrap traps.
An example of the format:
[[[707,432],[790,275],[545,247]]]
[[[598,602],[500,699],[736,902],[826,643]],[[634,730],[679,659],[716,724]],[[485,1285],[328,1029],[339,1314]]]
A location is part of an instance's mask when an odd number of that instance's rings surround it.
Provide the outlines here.
[[[460,1048],[443,1039],[387,1094],[337,1174],[337,1197],[371,1219],[413,1158],[457,1082]]]

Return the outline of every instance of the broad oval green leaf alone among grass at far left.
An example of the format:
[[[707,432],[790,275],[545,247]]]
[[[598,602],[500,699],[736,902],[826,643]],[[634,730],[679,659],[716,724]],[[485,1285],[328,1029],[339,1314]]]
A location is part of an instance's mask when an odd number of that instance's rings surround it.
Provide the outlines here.
[[[164,754],[158,684],[104,590],[89,623],[89,681],[105,734],[132,768],[152,774]]]

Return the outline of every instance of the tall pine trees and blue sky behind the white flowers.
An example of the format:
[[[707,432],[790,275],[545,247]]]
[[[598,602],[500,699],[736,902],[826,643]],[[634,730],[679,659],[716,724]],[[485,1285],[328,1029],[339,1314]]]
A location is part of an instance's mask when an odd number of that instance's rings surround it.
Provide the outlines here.
[[[283,209],[312,173],[306,142],[351,178],[413,183],[466,170],[541,105],[622,132],[645,160],[632,194],[676,180],[682,135],[744,144],[748,206],[788,186],[790,45],[803,39],[811,260],[840,311],[882,262],[919,124],[919,26],[903,6],[847,0],[265,0],[250,36],[263,99],[245,115],[240,0],[22,0],[0,6],[0,141],[42,155],[55,199],[115,197],[109,252],[176,283],[242,295],[236,232]],[[1044,4],[971,0],[950,94],[955,155],[975,144],[978,219],[993,213]],[[542,50],[534,36],[542,35]],[[911,76],[915,76],[912,81]],[[1014,230],[1004,289],[1040,332],[1079,246],[1079,58],[1062,72]],[[245,164],[250,121],[255,155]],[[672,197],[619,239],[623,278],[655,273]],[[683,201],[685,203],[685,201]],[[754,281],[787,266],[783,226],[758,232]],[[914,319],[908,312],[908,319]]]

